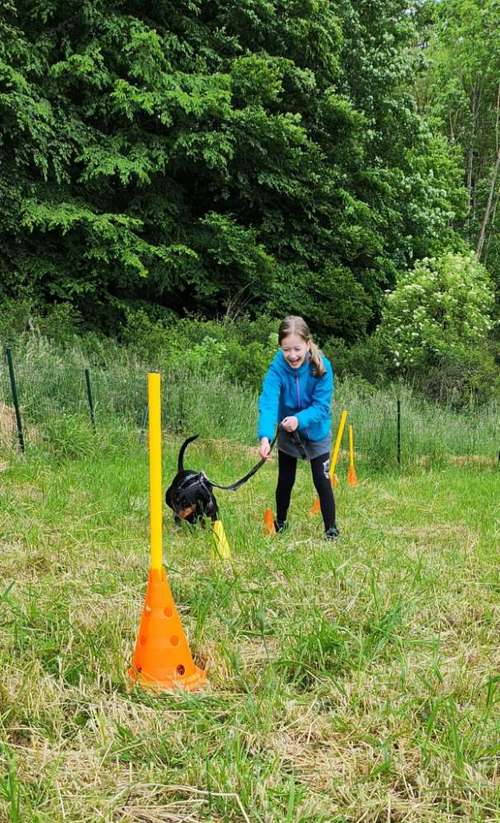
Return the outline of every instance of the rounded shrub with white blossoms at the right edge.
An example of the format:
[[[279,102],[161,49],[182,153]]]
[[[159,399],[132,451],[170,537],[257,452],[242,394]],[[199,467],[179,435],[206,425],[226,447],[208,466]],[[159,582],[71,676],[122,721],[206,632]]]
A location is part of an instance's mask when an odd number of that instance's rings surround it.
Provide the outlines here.
[[[394,365],[411,369],[480,343],[493,303],[488,272],[472,253],[424,258],[387,294],[379,333]]]

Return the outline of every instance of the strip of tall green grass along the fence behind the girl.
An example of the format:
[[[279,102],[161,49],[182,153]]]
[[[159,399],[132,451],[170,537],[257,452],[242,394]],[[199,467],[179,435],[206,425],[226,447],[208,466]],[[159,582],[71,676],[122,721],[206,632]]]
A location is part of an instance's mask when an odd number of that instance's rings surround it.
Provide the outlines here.
[[[160,365],[163,374],[163,420],[171,432],[255,443],[257,395],[224,376],[182,372]],[[28,428],[61,443],[77,436],[75,420],[88,418],[84,368],[90,366],[96,418],[101,431],[146,424],[146,372],[127,349],[112,342],[93,351],[75,345],[64,350],[31,335],[15,351],[15,370],[22,414]],[[455,412],[425,402],[408,386],[376,389],[345,379],[336,386],[334,425],[346,408],[354,426],[358,460],[371,470],[396,467],[396,400],[402,408],[402,466],[438,464],[450,455],[494,460],[498,447],[495,403],[471,412]],[[11,403],[7,371],[2,370],[0,401]],[[32,432],[33,435],[33,432]],[[80,435],[81,436],[81,435]],[[28,434],[28,444],[30,437]],[[36,441],[36,435],[31,437]],[[43,436],[38,438],[43,440]],[[70,445],[68,443],[68,448]],[[78,446],[77,446],[78,448]]]

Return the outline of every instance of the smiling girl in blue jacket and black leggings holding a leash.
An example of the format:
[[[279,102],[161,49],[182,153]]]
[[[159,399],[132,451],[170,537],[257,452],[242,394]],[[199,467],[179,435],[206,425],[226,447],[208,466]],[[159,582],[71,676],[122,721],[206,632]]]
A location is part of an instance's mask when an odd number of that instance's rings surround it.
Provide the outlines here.
[[[278,485],[276,487],[276,531],[286,527],[286,516],[295,483],[297,458],[311,463],[318,492],[325,536],[335,540],[335,500],[329,478],[332,444],[331,405],[333,370],[329,360],[313,342],[302,317],[285,317],[278,331],[280,350],[271,363],[259,397],[260,457],[270,453],[270,440],[277,423]]]

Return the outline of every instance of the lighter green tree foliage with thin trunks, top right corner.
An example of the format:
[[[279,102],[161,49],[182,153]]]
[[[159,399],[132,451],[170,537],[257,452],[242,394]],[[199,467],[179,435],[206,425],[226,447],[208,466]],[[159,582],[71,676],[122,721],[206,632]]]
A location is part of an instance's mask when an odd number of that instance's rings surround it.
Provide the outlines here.
[[[419,108],[460,153],[467,189],[461,229],[500,287],[500,5],[427,0],[420,18]]]

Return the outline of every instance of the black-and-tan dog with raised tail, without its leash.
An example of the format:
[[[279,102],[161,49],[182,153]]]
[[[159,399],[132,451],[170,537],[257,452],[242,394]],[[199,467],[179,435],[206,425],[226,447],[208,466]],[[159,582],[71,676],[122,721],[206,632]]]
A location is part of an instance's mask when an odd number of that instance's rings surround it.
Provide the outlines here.
[[[167,506],[176,517],[195,523],[204,517],[217,519],[217,501],[213,488],[203,472],[184,469],[184,451],[195,437],[189,437],[181,446],[178,458],[178,471],[165,494]]]

